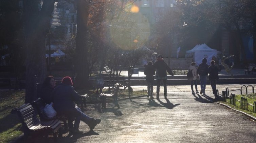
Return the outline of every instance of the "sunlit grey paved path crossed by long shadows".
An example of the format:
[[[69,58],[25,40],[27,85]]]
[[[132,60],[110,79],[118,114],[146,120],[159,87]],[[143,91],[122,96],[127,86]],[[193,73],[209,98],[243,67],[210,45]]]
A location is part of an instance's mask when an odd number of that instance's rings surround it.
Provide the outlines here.
[[[101,118],[102,122],[90,132],[89,127],[81,122],[79,130],[84,131],[84,134],[66,134],[63,138],[58,138],[58,142],[256,142],[255,121],[241,113],[209,102],[209,99],[214,99],[214,95],[211,86],[206,87],[206,95],[192,95],[189,85],[167,86],[168,99],[164,99],[161,86],[160,100],[151,100],[146,95],[122,99],[118,102],[120,109],[113,108],[111,103],[107,104],[107,109],[104,110],[100,109],[99,104],[88,104],[85,113],[91,117]],[[232,90],[241,88],[241,85],[217,86],[220,91],[226,87]],[[146,86],[132,88],[146,90]]]

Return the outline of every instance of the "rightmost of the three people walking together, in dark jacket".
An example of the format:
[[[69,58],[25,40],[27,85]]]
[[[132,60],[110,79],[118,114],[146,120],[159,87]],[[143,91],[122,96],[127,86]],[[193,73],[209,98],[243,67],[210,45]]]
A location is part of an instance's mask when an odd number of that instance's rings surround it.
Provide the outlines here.
[[[215,61],[211,61],[211,65],[208,67],[209,69],[209,80],[211,80],[211,86],[213,89],[213,94],[216,96],[216,81],[219,79],[219,72],[221,71],[221,66],[217,67],[215,65]]]

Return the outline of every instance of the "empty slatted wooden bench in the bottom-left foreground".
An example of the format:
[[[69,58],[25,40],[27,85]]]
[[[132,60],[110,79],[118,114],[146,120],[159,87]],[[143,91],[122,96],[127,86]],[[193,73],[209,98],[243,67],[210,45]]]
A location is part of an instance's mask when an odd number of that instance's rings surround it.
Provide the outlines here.
[[[25,139],[28,138],[29,135],[34,134],[40,134],[48,139],[48,135],[53,134],[54,141],[57,142],[57,132],[61,127],[59,120],[39,120],[33,106],[30,103],[23,104],[19,108],[13,109],[11,113],[16,113],[19,116]]]

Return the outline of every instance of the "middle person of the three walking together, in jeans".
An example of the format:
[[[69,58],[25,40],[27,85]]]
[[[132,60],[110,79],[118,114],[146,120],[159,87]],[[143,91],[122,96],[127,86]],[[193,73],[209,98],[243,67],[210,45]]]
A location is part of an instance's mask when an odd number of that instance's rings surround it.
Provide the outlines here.
[[[205,86],[206,86],[206,78],[208,75],[208,65],[206,64],[207,59],[203,58],[202,63],[199,64],[197,68],[197,75],[199,74],[199,79],[200,79],[200,86],[201,86],[201,91],[200,94],[205,95]]]

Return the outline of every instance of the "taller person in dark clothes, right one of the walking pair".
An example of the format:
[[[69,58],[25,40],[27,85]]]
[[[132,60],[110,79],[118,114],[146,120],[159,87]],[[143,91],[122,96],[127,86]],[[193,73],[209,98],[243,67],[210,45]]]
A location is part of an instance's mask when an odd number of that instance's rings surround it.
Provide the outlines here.
[[[163,60],[162,55],[158,55],[157,61],[152,65],[155,69],[157,69],[156,72],[156,78],[157,78],[157,99],[159,99],[159,91],[160,91],[160,83],[163,81],[164,85],[164,98],[167,98],[167,73],[166,71],[173,76],[173,73],[170,69],[170,67],[167,65],[167,63]]]

